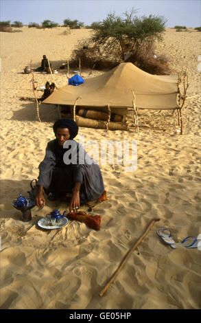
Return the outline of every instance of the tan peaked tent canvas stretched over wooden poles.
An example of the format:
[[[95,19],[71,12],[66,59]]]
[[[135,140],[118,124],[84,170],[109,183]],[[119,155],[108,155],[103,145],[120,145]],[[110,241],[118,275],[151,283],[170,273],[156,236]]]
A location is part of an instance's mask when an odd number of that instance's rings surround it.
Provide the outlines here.
[[[104,74],[86,78],[79,87],[66,85],[56,89],[46,104],[93,107],[126,115],[128,107],[140,109],[178,109],[178,76],[157,76],[142,71],[132,63],[121,63]]]

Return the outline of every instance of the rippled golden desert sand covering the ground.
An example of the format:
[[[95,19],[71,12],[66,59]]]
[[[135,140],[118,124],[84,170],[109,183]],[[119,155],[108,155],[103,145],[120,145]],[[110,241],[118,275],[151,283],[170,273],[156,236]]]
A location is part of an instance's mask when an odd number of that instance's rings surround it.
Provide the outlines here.
[[[1,309],[199,309],[201,307],[201,253],[172,249],[156,235],[169,228],[175,241],[198,236],[200,223],[200,33],[168,29],[157,52],[169,58],[172,74],[182,66],[189,74],[189,99],[182,115],[184,135],[176,116],[168,111],[139,111],[139,133],[132,112],[128,131],[80,128],[85,140],[137,140],[138,167],[100,165],[108,201],[91,214],[102,216],[101,229],[70,222],[60,230],[40,230],[37,221],[49,211],[67,209],[47,200],[32,209],[32,221],[20,221],[12,206],[19,192],[27,196],[29,181],[38,177],[45,147],[54,139],[56,107],[21,101],[33,98],[30,74],[23,69],[32,60],[40,66],[43,54],[60,67],[89,30],[70,34],[62,27],[1,32]],[[71,71],[73,75],[73,71]],[[83,71],[84,76],[88,71]],[[99,72],[94,72],[94,76]],[[36,94],[51,76],[35,73]],[[58,87],[67,84],[66,71],[54,74]],[[193,96],[193,97],[191,97]],[[79,139],[79,135],[78,138]],[[150,221],[160,218],[132,253],[113,285],[103,289],[119,263],[143,234]]]

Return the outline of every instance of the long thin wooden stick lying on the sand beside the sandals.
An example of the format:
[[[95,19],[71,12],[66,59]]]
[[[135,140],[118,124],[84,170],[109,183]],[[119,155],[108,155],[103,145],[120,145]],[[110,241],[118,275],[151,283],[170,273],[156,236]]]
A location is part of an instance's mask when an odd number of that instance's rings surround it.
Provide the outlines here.
[[[123,268],[123,266],[125,265],[125,263],[128,260],[128,258],[130,257],[130,255],[134,251],[134,249],[136,249],[138,247],[138,245],[141,243],[141,241],[143,241],[143,238],[145,238],[145,236],[150,231],[150,229],[152,228],[152,226],[156,223],[156,221],[160,221],[160,219],[153,219],[152,220],[152,222],[150,223],[150,225],[147,227],[147,230],[145,231],[145,233],[141,236],[141,238],[139,238],[139,240],[137,241],[137,243],[134,244],[134,246],[130,249],[130,251],[128,252],[128,254],[126,254],[126,256],[123,258],[123,260],[121,261],[121,264],[119,265],[117,271],[115,271],[115,274],[113,274],[113,276],[110,278],[109,282],[106,284],[106,286],[104,287],[104,289],[102,289],[102,291],[100,291],[99,296],[102,297],[104,295],[104,293],[108,290],[108,288],[110,287],[110,285],[114,282],[115,278],[117,277],[117,275],[119,274],[119,272],[121,271],[121,269]]]

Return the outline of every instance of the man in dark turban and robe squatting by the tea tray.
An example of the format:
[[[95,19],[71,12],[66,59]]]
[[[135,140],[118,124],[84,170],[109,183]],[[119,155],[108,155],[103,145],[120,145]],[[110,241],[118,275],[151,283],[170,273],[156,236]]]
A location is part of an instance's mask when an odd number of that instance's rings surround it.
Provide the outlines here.
[[[78,125],[73,120],[60,119],[54,123],[53,129],[56,139],[47,143],[45,159],[39,165],[36,205],[39,207],[45,205],[43,188],[47,195],[51,193],[52,200],[71,193],[69,205],[71,212],[71,209],[80,208],[80,205],[87,201],[95,201],[102,197],[104,181],[99,166],[95,164],[91,157],[88,156],[92,163],[86,163],[86,159],[84,159],[82,164],[71,162],[73,153],[71,158],[65,159],[64,154],[68,154],[69,151],[69,148],[65,148],[68,140],[69,147],[75,147],[77,161],[80,156],[79,152],[86,156],[84,148],[73,140],[78,135]]]

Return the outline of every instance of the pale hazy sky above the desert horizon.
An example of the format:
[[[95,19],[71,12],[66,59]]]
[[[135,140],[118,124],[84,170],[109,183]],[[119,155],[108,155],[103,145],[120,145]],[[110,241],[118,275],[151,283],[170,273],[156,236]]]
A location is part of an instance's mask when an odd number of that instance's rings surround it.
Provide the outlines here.
[[[134,8],[137,16],[164,16],[166,27],[201,26],[201,0],[0,0],[0,20],[42,23],[49,19],[62,24],[78,19],[84,25],[102,21],[110,12],[118,16]]]

